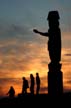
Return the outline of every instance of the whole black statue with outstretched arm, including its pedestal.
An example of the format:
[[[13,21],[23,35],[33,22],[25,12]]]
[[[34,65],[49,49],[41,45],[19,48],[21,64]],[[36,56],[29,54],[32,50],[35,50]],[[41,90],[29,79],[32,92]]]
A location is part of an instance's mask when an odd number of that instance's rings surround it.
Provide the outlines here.
[[[49,38],[48,51],[50,63],[48,64],[48,94],[60,95],[63,93],[63,75],[61,72],[61,31],[59,28],[59,13],[58,11],[50,11],[47,17],[49,29],[43,33],[36,29],[33,31],[42,36]]]

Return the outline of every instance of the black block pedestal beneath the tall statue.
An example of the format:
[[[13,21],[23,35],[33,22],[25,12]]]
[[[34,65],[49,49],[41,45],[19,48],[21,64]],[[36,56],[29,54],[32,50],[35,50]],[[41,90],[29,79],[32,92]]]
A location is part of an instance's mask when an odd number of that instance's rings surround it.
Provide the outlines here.
[[[59,67],[57,69],[55,66],[49,65],[48,72],[48,94],[49,95],[62,95],[63,93],[63,73],[60,71]],[[54,68],[53,68],[54,67]]]

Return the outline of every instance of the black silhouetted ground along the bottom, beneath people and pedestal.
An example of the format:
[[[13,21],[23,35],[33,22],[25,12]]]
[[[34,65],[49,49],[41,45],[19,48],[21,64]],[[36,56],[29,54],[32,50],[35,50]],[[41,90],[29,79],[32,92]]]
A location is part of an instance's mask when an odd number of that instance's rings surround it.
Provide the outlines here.
[[[14,98],[2,98],[0,99],[0,108],[3,107],[46,107],[61,106],[67,104],[71,106],[71,93],[65,93],[61,96],[49,96],[48,94],[39,95],[20,95]]]

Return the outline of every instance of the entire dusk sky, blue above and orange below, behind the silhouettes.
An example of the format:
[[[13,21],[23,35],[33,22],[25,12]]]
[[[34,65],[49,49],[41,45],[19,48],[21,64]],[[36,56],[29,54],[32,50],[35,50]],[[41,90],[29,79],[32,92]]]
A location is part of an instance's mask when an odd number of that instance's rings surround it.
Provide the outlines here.
[[[21,92],[21,78],[29,80],[30,73],[35,77],[36,72],[41,92],[47,92],[48,38],[33,29],[47,32],[47,16],[52,10],[60,15],[64,91],[71,91],[71,0],[0,0],[0,96],[10,85],[16,94]]]

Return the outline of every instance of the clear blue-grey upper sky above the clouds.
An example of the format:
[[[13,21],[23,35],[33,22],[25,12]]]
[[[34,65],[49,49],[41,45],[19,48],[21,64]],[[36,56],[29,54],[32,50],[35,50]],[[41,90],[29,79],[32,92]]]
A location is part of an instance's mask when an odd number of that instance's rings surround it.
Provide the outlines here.
[[[69,28],[70,0],[0,0],[0,22],[44,26],[50,10],[59,11],[63,30]]]

